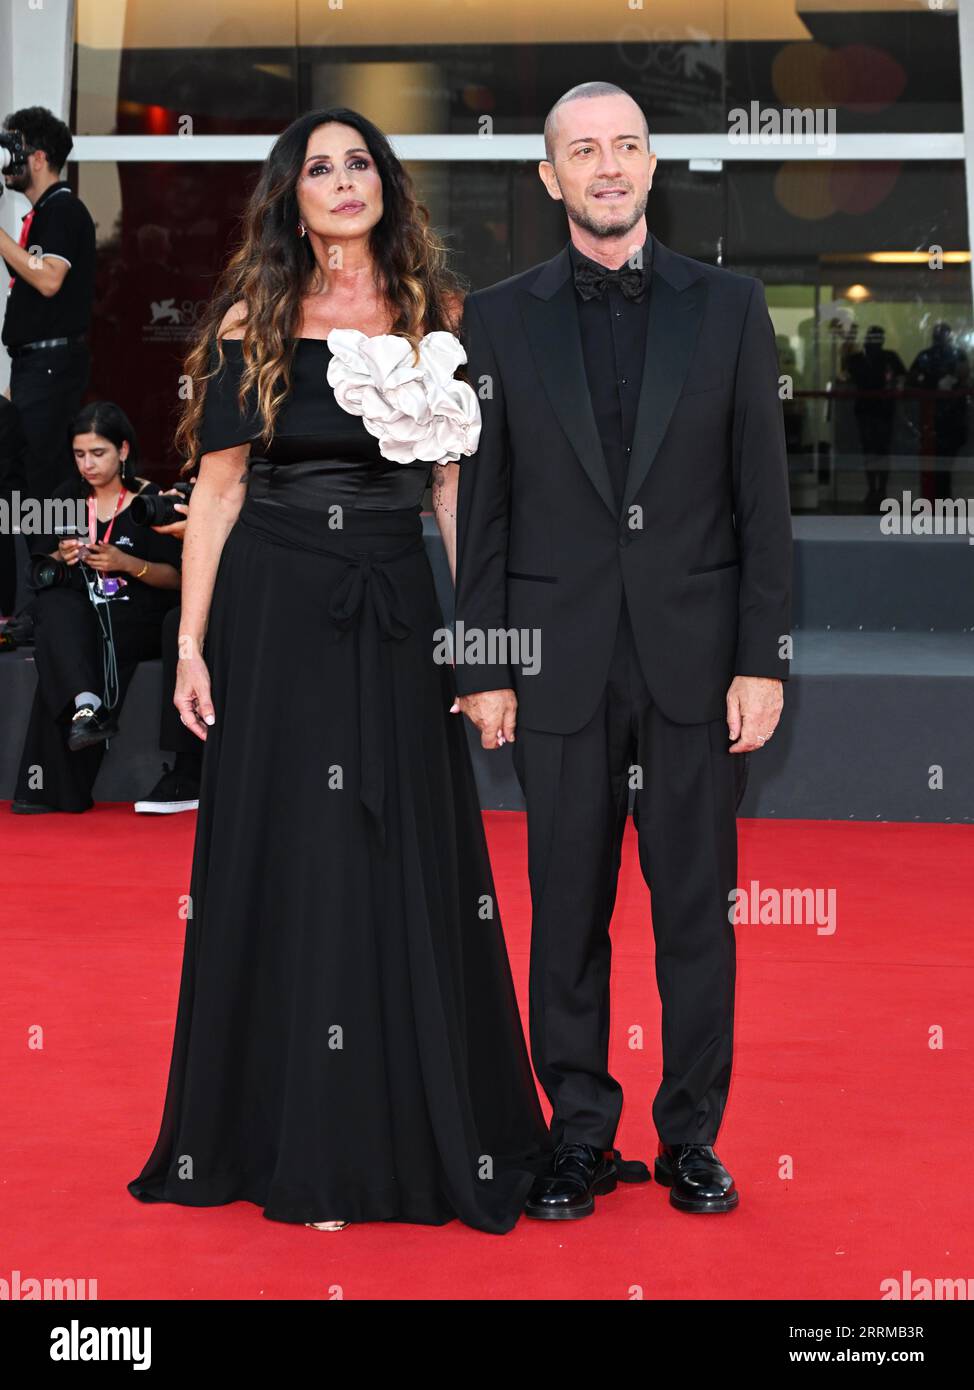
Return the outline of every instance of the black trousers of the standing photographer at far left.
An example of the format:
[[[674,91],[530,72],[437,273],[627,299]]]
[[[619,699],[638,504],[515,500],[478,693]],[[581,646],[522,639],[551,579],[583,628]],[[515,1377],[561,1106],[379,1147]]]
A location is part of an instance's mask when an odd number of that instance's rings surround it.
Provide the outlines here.
[[[26,495],[50,498],[76,473],[71,421],[78,414],[92,370],[86,343],[11,352],[10,399],[26,441]]]

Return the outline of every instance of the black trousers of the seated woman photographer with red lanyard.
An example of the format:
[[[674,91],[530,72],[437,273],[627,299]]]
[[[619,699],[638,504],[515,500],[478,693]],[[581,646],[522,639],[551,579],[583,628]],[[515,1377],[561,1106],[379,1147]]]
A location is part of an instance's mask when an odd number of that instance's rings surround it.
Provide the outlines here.
[[[108,607],[118,666],[118,712],[139,662],[161,655],[161,616],[157,607],[147,612],[139,603],[115,602]],[[90,810],[106,745],[71,752],[67,739],[75,696],[90,691],[104,699],[101,628],[83,589],[40,589],[33,614],[38,689],[14,795],[17,801],[57,810]]]

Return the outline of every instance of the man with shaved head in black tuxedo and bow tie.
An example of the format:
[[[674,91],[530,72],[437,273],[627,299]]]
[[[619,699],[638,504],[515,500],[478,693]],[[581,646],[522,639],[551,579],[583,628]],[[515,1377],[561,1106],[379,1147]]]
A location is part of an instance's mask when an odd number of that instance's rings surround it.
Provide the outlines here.
[[[631,785],[663,1005],[656,1179],[679,1209],[728,1211],[713,1145],[736,806],[788,674],[774,331],[760,281],[649,235],[656,156],[625,92],[572,88],[545,143],[571,240],[467,299],[482,434],[457,503],[454,708],[485,748],[514,742],[528,806],[531,1048],[556,1148],[527,1212],[585,1216],[624,1176],[609,923]]]

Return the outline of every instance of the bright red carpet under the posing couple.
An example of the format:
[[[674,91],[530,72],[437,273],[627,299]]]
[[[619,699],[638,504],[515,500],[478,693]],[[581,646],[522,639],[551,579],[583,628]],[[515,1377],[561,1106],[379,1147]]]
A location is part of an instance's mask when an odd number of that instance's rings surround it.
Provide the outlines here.
[[[875,1300],[905,1270],[974,1273],[970,827],[741,823],[741,883],[834,888],[836,930],[738,927],[736,1065],[717,1145],[736,1212],[686,1216],[653,1184],[618,1188],[586,1220],[522,1219],[509,1236],[457,1222],[332,1234],[247,1202],[143,1207],[125,1190],[161,1113],[193,817],[0,815],[0,1279],[97,1279],[100,1298]],[[522,988],[524,817],[485,819]],[[613,935],[620,1145],[646,1158],[659,1002],[631,824]],[[642,1051],[629,1048],[636,1027]]]

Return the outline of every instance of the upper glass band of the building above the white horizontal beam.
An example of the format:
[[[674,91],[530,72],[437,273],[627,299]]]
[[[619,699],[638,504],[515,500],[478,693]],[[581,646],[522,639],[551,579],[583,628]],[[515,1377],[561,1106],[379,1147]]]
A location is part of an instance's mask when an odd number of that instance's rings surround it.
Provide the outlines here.
[[[956,3],[928,0],[78,0],[79,135],[282,129],[315,106],[383,129],[534,133],[584,75],[663,133],[835,107],[843,131],[959,131]]]

